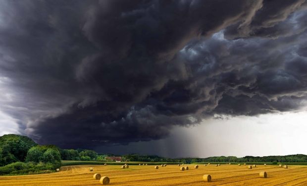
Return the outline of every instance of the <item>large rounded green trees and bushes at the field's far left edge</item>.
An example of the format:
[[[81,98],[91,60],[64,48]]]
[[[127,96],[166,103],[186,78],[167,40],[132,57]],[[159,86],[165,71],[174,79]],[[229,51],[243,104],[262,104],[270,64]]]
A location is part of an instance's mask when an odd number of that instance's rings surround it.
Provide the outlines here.
[[[26,136],[0,137],[0,175],[51,172],[61,166],[59,149],[41,146]]]

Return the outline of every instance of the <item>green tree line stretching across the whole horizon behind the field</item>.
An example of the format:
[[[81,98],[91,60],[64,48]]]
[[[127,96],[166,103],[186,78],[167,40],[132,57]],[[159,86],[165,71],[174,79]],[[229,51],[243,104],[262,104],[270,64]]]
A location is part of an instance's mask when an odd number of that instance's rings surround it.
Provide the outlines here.
[[[287,156],[215,156],[208,158],[164,158],[156,155],[98,154],[86,149],[60,149],[55,145],[38,145],[32,139],[15,134],[0,136],[0,175],[36,174],[53,172],[61,166],[61,160],[107,161],[106,157],[121,156],[123,162],[307,162],[307,155]]]

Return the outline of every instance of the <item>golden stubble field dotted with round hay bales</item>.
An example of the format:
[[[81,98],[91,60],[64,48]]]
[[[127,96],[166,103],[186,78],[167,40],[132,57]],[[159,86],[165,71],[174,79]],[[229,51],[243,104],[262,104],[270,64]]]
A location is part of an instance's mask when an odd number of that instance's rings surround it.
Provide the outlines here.
[[[182,166],[182,165],[181,165]],[[185,165],[188,171],[180,171],[178,165],[159,166],[131,165],[121,169],[119,165],[78,165],[61,167],[60,172],[41,175],[2,176],[0,186],[101,186],[93,175],[99,173],[110,178],[113,186],[307,186],[307,166],[257,165],[253,169],[238,165]],[[90,172],[89,168],[94,171]],[[266,171],[266,179],[259,178],[259,172]],[[202,180],[204,174],[212,177],[212,182]]]

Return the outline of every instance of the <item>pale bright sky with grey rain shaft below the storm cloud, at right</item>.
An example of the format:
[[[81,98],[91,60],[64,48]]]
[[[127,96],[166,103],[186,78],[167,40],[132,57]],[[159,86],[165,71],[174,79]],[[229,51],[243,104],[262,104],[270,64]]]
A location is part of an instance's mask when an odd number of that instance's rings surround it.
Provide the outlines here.
[[[175,127],[165,139],[109,146],[103,150],[176,158],[307,154],[307,149],[302,148],[307,141],[306,121],[304,111],[210,119],[194,127]]]

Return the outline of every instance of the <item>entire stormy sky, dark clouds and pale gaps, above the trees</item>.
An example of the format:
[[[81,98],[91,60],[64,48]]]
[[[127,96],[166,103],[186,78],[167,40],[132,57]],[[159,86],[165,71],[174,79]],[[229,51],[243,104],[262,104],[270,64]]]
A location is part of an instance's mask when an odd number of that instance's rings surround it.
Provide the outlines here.
[[[306,46],[306,0],[0,0],[0,135],[307,154]]]

